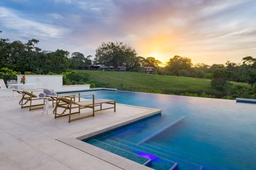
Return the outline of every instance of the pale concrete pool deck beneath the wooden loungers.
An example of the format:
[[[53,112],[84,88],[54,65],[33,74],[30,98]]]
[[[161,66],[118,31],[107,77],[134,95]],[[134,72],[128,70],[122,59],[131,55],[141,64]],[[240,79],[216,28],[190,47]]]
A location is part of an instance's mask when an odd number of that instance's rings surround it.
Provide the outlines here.
[[[95,117],[68,123],[43,109],[20,108],[19,97],[0,97],[1,169],[151,169],[78,139],[162,112],[117,104]],[[77,138],[77,139],[76,139]]]

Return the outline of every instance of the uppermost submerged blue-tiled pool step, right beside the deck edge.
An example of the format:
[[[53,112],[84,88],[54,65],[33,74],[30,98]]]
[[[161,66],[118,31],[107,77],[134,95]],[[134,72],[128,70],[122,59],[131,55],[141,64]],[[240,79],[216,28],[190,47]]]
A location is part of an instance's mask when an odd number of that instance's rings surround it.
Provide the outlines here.
[[[107,151],[110,151],[110,152],[112,152],[116,155],[119,155],[119,156],[122,156],[124,158],[133,160],[134,162],[137,162],[137,163],[142,164],[142,165],[147,165],[151,162],[151,160],[148,159],[148,158],[141,157],[141,156],[138,156],[136,154],[133,154],[132,152],[129,152],[129,151],[126,151],[124,149],[115,147],[113,145],[109,145],[106,142],[102,142],[102,141],[99,141],[99,140],[96,140],[96,139],[90,139],[90,140],[87,140],[86,142],[90,143],[91,145],[94,145],[96,147],[99,147],[101,149],[105,149]]]

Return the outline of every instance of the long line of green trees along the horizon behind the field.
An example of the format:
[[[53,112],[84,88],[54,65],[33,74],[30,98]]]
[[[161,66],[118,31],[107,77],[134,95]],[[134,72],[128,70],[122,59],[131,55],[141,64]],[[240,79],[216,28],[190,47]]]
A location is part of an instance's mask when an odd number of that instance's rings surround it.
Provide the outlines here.
[[[1,31],[0,31],[1,33]],[[127,71],[142,72],[144,66],[154,67],[155,74],[212,79],[211,85],[219,91],[227,91],[230,81],[245,82],[253,87],[256,82],[256,58],[246,56],[242,63],[227,61],[225,64],[193,65],[188,57],[175,55],[165,66],[154,57],[137,56],[135,49],[121,42],[102,43],[96,50],[95,57],[57,49],[55,52],[42,50],[36,45],[37,39],[23,44],[19,40],[9,42],[0,39],[0,68],[15,72],[33,72],[36,74],[60,73],[67,69],[87,70],[92,64],[114,67],[125,66]],[[256,85],[255,85],[256,86]],[[255,87],[256,88],[256,87]]]

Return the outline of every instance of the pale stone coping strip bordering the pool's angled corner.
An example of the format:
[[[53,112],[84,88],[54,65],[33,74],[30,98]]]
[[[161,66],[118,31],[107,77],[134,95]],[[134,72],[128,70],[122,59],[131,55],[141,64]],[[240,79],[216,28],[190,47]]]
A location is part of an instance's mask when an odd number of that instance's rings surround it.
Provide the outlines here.
[[[162,109],[155,109],[155,108],[148,108],[148,107],[140,107],[140,106],[133,106],[133,105],[125,105],[125,104],[118,104],[123,106],[129,106],[129,107],[136,107],[136,108],[143,108],[147,109],[149,111],[140,113],[138,115],[133,115],[130,117],[123,118],[122,120],[118,120],[115,122],[111,122],[109,124],[105,124],[103,126],[100,126],[95,129],[90,129],[88,131],[79,132],[76,134],[68,135],[67,137],[58,138],[56,140],[65,143],[66,145],[69,145],[70,147],[74,147],[78,150],[81,150],[85,152],[86,154],[89,154],[91,156],[94,156],[96,158],[99,158],[109,164],[115,165],[118,168],[122,169],[152,169],[147,166],[141,165],[139,163],[133,162],[130,159],[126,159],[124,157],[118,156],[116,154],[113,154],[109,151],[106,151],[104,149],[95,147],[93,145],[90,145],[89,143],[83,142],[83,139],[93,137],[94,135],[107,132],[109,130],[116,129],[120,126],[133,123],[139,120],[142,120],[143,118],[147,118],[159,113],[162,113]]]

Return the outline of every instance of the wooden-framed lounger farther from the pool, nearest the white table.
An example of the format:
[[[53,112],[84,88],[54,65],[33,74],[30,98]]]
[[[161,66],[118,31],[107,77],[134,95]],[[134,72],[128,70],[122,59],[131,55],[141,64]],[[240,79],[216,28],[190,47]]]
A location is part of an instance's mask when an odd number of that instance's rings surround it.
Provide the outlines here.
[[[14,90],[14,91],[17,91],[19,94],[22,94],[22,97],[19,101],[19,104],[21,105],[21,108],[29,107],[29,111],[44,108],[45,98],[38,97],[37,95],[33,94],[33,91],[31,91],[31,92],[24,91],[24,90],[23,91]],[[34,100],[43,100],[43,103],[33,104]],[[38,106],[40,106],[40,107],[38,107]]]

